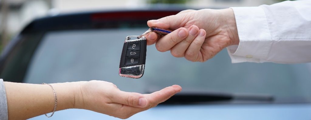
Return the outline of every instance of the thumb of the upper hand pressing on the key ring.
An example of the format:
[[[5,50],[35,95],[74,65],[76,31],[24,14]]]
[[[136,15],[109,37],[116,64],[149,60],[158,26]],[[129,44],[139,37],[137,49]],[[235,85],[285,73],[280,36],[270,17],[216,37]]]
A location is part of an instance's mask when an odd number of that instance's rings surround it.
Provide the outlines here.
[[[184,19],[184,17],[186,17],[185,14],[166,16],[158,20],[147,21],[147,25],[149,27],[176,30],[183,27],[183,25],[188,22],[185,21],[186,19]]]

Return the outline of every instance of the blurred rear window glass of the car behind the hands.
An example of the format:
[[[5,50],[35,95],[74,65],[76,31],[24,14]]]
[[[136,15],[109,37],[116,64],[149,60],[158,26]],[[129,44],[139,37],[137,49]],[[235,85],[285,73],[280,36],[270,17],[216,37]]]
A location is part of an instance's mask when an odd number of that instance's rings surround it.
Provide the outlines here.
[[[55,83],[103,80],[120,90],[149,93],[169,85],[183,91],[273,95],[276,101],[311,101],[311,64],[235,63],[224,49],[207,62],[175,58],[147,46],[140,79],[120,77],[124,39],[148,28],[49,32],[31,58],[24,81]]]

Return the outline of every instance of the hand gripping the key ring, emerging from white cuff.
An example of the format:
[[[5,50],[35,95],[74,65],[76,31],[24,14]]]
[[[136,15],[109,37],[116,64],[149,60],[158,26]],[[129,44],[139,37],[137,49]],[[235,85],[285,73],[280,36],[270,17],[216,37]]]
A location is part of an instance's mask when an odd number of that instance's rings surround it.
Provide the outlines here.
[[[147,22],[149,27],[174,30],[168,35],[151,32],[145,35],[147,45],[155,44],[160,52],[170,50],[174,57],[205,62],[223,48],[239,44],[231,8],[222,10],[185,10],[176,15]]]

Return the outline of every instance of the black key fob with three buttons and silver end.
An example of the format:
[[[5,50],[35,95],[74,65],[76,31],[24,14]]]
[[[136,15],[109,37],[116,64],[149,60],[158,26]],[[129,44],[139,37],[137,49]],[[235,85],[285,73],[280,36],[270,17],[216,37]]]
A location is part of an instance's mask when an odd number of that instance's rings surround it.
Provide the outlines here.
[[[140,78],[144,74],[146,62],[147,41],[145,37],[127,36],[125,38],[119,75],[130,78]]]

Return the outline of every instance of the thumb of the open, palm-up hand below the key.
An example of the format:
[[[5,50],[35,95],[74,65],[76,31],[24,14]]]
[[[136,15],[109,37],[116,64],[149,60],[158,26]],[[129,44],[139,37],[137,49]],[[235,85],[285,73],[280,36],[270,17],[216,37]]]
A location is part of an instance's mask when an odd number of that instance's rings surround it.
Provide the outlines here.
[[[139,93],[124,92],[121,90],[118,90],[111,100],[113,103],[124,104],[138,108],[144,108],[148,104],[148,101],[144,95]]]

